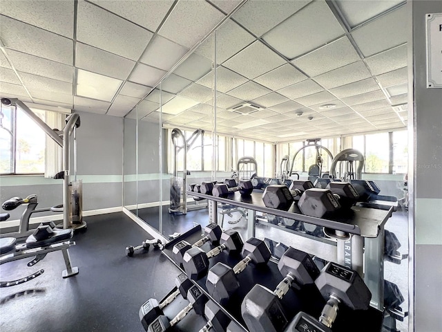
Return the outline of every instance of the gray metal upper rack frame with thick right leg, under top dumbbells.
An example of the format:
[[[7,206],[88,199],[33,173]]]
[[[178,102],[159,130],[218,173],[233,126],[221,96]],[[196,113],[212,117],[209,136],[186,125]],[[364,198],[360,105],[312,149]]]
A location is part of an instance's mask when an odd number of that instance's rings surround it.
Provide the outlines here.
[[[393,208],[389,210],[378,210],[374,208],[365,208],[354,206],[351,210],[341,211],[339,213],[329,214],[325,218],[316,218],[302,214],[298,205],[292,204],[289,210],[276,210],[267,208],[262,201],[262,192],[252,192],[251,196],[241,196],[239,192],[229,194],[227,198],[215,197],[207,194],[189,192],[201,199],[207,199],[211,207],[210,222],[218,223],[218,203],[227,203],[244,208],[247,210],[247,237],[255,236],[256,212],[263,212],[281,216],[282,218],[293,219],[305,223],[311,223],[323,226],[327,230],[344,232],[352,234],[351,239],[338,240],[336,242],[323,241],[320,243],[318,252],[309,252],[327,261],[336,261],[336,263],[352,268],[364,276],[365,284],[372,292],[371,306],[383,311],[383,287],[384,287],[384,226],[390,216]],[[258,221],[259,222],[259,221]],[[261,222],[262,223],[262,222]],[[265,223],[271,227],[287,230],[279,225]],[[296,236],[296,234],[294,234]],[[296,241],[300,240],[299,250],[305,250],[305,237],[298,236]],[[308,239],[311,243],[311,239]],[[309,246],[311,248],[311,246]],[[324,257],[324,252],[333,252],[336,255]]]

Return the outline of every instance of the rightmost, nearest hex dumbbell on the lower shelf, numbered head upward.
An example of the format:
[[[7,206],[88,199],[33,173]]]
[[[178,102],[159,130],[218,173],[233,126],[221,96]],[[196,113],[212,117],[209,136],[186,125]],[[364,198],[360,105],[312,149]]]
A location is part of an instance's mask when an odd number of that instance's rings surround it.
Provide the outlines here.
[[[356,271],[333,262],[321,270],[315,284],[327,300],[319,319],[316,320],[301,311],[294,317],[286,332],[332,332],[331,327],[338,315],[340,304],[345,304],[353,310],[366,310],[372,299],[372,293]]]

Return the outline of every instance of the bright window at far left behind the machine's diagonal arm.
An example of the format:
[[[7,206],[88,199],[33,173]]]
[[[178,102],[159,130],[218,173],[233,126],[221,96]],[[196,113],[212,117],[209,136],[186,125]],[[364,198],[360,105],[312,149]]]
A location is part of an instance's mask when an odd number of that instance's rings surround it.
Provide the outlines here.
[[[46,122],[50,111],[32,110]],[[44,174],[46,133],[21,109],[1,106],[0,112],[0,173]],[[52,174],[53,176],[54,174]]]

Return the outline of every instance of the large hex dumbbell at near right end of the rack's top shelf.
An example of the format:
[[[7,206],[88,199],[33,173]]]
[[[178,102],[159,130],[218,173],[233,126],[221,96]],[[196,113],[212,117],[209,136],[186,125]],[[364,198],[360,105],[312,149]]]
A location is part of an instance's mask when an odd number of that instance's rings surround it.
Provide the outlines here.
[[[302,214],[322,218],[327,212],[349,209],[358,198],[358,192],[351,183],[331,182],[326,189],[305,190],[298,201],[298,208]]]

